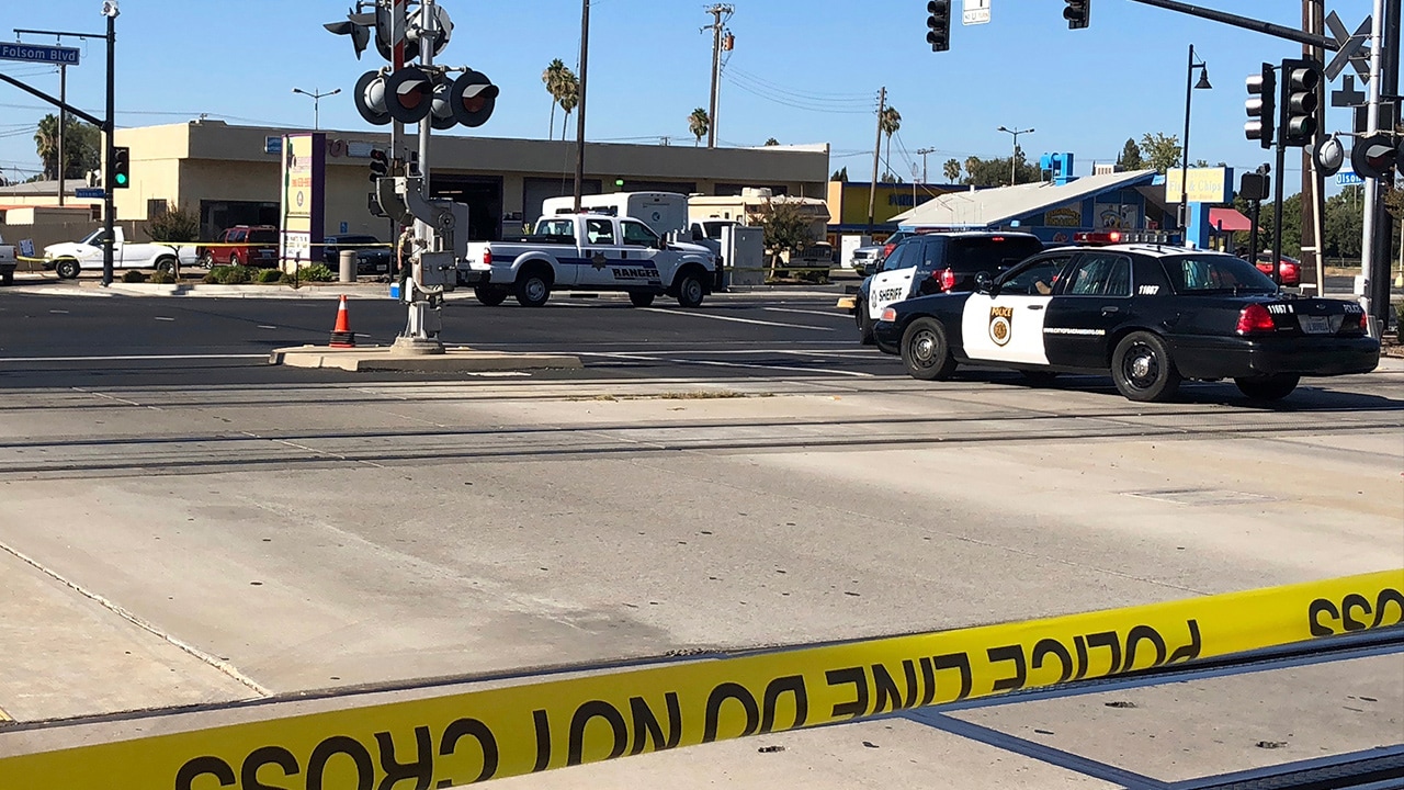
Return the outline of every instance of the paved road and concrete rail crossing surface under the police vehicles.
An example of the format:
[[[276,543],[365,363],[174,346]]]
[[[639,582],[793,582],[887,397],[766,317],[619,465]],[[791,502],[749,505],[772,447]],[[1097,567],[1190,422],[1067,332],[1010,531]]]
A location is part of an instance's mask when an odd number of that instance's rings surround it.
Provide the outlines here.
[[[1251,406],[972,368],[833,297],[455,301],[580,371],[347,374],[327,299],[0,292],[0,718],[913,633],[1404,566],[1404,370]],[[354,299],[385,342],[389,301]],[[767,735],[505,787],[1102,787],[1404,742],[1404,658]],[[119,724],[110,724],[121,730]],[[0,727],[0,755],[62,738]],[[1265,746],[1268,744],[1269,746]],[[765,751],[758,751],[764,748]]]

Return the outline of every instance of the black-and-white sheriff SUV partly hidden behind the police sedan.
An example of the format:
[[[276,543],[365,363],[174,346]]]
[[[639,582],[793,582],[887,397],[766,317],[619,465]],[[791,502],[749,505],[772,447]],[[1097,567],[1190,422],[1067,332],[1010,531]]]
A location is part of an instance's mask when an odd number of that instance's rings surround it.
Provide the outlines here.
[[[873,342],[873,323],[893,302],[942,291],[970,291],[981,271],[998,274],[1039,252],[1043,252],[1043,242],[1032,233],[962,231],[908,235],[858,287],[854,298],[858,340],[863,344]]]

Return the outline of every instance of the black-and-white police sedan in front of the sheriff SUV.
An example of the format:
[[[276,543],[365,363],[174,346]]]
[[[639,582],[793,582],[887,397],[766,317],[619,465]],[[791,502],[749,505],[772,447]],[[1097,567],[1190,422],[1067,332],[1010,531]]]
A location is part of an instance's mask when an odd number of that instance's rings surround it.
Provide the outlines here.
[[[974,292],[892,305],[873,335],[915,378],[965,363],[1033,381],[1111,373],[1132,401],[1167,401],[1185,378],[1231,378],[1276,401],[1303,375],[1369,373],[1380,360],[1360,305],[1282,294],[1245,260],[1158,245],[1047,250],[980,276]]]

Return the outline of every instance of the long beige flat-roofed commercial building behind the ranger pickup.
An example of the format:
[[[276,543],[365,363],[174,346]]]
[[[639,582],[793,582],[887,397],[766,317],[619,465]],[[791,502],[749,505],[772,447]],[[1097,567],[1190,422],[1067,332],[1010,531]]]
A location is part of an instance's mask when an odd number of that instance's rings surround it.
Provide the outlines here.
[[[118,129],[131,149],[132,187],[117,190],[117,218],[140,221],[167,207],[199,214],[205,239],[230,225],[281,225],[281,139],[292,129],[191,121]],[[389,238],[372,214],[369,156],[388,131],[327,131],[324,233]],[[417,141],[414,141],[417,142]],[[576,143],[435,135],[430,191],[469,205],[475,240],[519,233],[548,197],[574,190]],[[821,198],[828,145],[706,149],[585,145],[584,193],[673,191],[739,195],[746,187]]]

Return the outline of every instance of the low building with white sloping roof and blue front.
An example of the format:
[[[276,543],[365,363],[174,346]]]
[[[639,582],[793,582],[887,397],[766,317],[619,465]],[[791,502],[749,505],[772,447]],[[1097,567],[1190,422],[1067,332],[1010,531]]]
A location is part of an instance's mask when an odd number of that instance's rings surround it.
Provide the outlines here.
[[[1078,231],[1167,226],[1154,170],[951,193],[893,218],[903,229],[1025,231],[1045,242],[1071,242]],[[1170,225],[1174,222],[1171,221]]]

